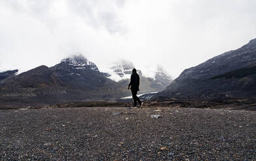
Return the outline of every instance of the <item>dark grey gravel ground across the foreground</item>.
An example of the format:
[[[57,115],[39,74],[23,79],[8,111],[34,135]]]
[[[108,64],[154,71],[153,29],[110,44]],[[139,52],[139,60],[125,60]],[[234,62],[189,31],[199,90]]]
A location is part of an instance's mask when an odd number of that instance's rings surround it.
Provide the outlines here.
[[[0,110],[0,160],[256,160],[255,133],[244,110]]]

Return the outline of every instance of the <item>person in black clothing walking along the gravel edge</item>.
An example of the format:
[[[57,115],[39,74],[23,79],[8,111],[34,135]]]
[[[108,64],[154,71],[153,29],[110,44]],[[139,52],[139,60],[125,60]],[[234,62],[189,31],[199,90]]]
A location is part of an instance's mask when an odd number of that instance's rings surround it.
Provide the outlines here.
[[[140,77],[138,76],[138,73],[136,73],[136,69],[133,69],[133,73],[131,75],[131,81],[128,85],[128,90],[131,87],[131,93],[133,95],[133,107],[136,108],[137,106],[137,101],[138,104],[140,105],[140,108],[142,108],[142,101],[140,101],[140,99],[137,97],[137,93],[140,90],[138,87],[140,86]]]

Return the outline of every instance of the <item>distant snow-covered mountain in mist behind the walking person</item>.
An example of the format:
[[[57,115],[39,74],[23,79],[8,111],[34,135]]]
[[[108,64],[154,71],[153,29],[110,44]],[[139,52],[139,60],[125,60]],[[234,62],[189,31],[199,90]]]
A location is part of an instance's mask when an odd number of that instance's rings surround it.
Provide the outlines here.
[[[130,82],[133,68],[135,66],[132,62],[120,60],[115,62],[105,75],[126,88]],[[140,69],[137,69],[137,73],[140,75],[140,93],[164,90],[172,82],[172,78],[160,67],[154,72],[152,77],[144,75]]]

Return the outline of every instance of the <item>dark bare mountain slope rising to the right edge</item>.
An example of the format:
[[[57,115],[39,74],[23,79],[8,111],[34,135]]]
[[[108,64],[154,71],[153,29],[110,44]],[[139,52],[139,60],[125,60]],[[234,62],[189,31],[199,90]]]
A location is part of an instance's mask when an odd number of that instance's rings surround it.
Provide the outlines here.
[[[256,94],[256,39],[185,69],[156,97],[190,99],[249,98]]]

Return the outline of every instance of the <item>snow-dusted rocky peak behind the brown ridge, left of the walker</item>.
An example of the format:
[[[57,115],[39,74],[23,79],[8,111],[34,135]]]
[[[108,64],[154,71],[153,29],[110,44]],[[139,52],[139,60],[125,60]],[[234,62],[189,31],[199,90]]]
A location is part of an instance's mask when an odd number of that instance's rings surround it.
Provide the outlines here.
[[[97,66],[83,55],[65,58],[51,69],[64,84],[77,90],[101,94],[115,93],[115,89],[121,90],[120,84],[107,79],[103,73],[99,72]]]

